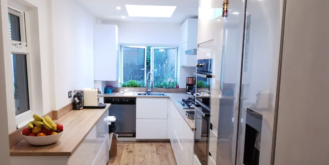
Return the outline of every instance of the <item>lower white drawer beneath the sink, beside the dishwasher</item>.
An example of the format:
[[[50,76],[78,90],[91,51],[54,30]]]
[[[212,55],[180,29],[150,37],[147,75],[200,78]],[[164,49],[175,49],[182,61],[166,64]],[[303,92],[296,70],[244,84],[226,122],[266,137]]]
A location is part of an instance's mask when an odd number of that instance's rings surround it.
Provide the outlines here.
[[[167,139],[167,119],[136,119],[136,139]]]

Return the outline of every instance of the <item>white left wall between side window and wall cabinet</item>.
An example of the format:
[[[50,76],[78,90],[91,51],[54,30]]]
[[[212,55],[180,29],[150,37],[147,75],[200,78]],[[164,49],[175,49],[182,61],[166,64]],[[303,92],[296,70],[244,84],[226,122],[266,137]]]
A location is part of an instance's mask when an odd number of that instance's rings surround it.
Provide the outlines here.
[[[67,92],[94,87],[93,25],[96,18],[73,0],[52,0],[55,108],[72,100]]]

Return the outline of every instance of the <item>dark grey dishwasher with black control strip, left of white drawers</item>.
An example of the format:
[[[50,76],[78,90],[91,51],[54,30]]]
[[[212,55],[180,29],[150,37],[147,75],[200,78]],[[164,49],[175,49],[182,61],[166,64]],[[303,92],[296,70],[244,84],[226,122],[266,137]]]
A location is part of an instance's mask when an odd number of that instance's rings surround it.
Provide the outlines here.
[[[118,137],[136,137],[136,98],[104,97],[104,103],[111,104],[109,116],[116,118],[114,133]]]

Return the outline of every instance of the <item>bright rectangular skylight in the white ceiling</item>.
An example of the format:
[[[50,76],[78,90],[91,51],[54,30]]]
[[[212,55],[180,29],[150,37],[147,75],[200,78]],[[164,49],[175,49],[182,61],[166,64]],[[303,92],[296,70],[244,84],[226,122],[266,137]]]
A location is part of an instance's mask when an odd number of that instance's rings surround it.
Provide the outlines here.
[[[130,17],[170,18],[177,6],[126,5]]]

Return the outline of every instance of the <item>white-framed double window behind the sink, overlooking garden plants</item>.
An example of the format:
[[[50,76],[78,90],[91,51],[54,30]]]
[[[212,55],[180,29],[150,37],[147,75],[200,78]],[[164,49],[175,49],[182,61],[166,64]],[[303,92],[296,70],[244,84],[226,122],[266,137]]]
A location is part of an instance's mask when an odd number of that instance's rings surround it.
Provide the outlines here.
[[[154,87],[175,88],[177,61],[177,47],[121,46],[121,87],[145,87],[151,72]]]

